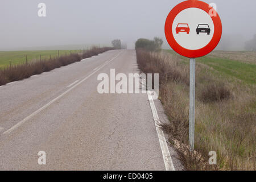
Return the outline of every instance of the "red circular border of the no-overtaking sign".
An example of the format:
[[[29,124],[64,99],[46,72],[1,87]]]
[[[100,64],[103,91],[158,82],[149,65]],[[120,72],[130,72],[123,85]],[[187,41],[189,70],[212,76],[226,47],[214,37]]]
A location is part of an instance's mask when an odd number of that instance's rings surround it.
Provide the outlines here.
[[[212,7],[209,7],[209,5],[203,1],[188,0],[188,1],[181,2],[177,6],[175,6],[174,9],[172,9],[171,12],[168,14],[164,31],[166,34],[167,42],[172,47],[172,49],[174,49],[174,51],[176,51],[177,53],[185,57],[195,58],[195,57],[201,57],[201,56],[207,55],[208,53],[212,52],[213,49],[218,45],[221,39],[221,34],[222,34],[222,24],[221,24],[220,16],[216,13],[217,16],[211,16],[214,24],[214,34],[213,34],[212,40],[210,40],[207,46],[201,49],[196,49],[196,50],[186,49],[180,46],[176,42],[174,35],[172,35],[172,28],[170,31],[170,27],[172,27],[172,23],[174,22],[174,19],[176,18],[177,14],[180,13],[180,11],[183,11],[191,7],[199,8],[201,10],[204,10],[207,13],[209,13],[209,11],[212,9]]]

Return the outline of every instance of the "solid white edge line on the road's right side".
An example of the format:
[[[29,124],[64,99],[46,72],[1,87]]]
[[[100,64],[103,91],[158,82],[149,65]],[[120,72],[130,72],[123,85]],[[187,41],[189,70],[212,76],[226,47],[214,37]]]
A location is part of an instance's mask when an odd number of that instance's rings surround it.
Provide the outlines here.
[[[154,100],[151,95],[151,91],[147,91],[147,96],[148,100],[150,101],[150,107],[152,110],[153,118],[155,121],[155,127],[156,127],[156,132],[158,133],[158,139],[160,143],[160,147],[162,150],[162,155],[163,155],[163,160],[164,160],[164,165],[166,166],[166,171],[175,171],[174,164],[172,163],[172,158],[170,155],[170,151],[168,150],[168,146],[166,143],[166,138],[164,137],[163,130],[158,126],[160,123],[160,119],[158,117],[158,112],[155,108]]]

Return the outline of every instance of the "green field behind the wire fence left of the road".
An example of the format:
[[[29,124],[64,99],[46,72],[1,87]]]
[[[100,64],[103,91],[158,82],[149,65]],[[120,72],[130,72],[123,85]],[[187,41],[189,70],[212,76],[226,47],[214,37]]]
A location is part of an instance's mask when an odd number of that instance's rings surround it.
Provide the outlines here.
[[[61,55],[68,55],[69,53],[79,53],[81,50],[60,50],[60,56]],[[40,60],[41,59],[49,59],[50,55],[51,58],[58,56],[57,50],[51,50],[51,51],[0,51],[0,68],[5,68],[11,65],[15,64],[22,64],[26,63],[26,55],[27,55],[27,61],[33,61],[33,60]]]

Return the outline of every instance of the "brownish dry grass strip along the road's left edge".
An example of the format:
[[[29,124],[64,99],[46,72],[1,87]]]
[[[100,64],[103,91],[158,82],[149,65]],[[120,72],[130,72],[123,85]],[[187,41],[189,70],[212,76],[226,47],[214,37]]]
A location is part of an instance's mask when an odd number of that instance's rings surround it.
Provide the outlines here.
[[[81,58],[87,58],[98,55],[99,53],[109,51],[109,47],[97,48],[93,47],[85,51],[82,57],[79,54],[71,54],[68,56],[60,56],[59,58],[51,60],[31,61],[28,64],[18,64],[12,67],[0,69],[0,85],[5,85],[8,82],[22,80],[32,75],[38,75],[43,72],[51,71],[52,69],[59,68],[77,61]]]

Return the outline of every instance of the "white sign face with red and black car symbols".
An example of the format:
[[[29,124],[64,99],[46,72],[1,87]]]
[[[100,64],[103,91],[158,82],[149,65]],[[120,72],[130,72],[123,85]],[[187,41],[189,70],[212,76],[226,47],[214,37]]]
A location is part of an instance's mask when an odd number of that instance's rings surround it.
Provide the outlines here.
[[[199,8],[185,9],[175,17],[172,34],[181,47],[190,50],[201,49],[213,38],[213,20],[207,12]]]

